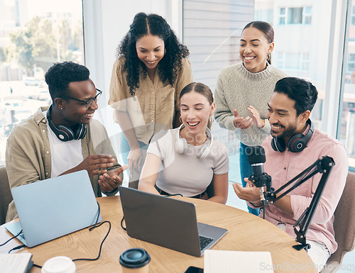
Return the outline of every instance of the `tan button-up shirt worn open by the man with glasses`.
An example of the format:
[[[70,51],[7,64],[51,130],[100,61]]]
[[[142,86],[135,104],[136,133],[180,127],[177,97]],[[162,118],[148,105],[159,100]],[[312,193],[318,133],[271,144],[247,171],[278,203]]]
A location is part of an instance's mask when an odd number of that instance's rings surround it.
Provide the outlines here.
[[[11,189],[15,186],[34,183],[50,178],[52,170],[52,152],[47,131],[47,118],[43,111],[48,107],[38,109],[30,118],[19,123],[9,135],[6,144],[6,171],[9,177]],[[81,140],[82,157],[89,155],[106,154],[112,155],[114,166],[107,170],[121,167],[117,162],[114,149],[107,135],[107,131],[96,119],[87,125],[87,134]],[[67,155],[70,157],[70,155]],[[80,162],[79,162],[80,163]],[[123,180],[123,174],[120,174]],[[102,196],[98,183],[99,177],[95,175],[90,178],[95,196]],[[118,191],[118,190],[117,190]],[[107,195],[114,195],[117,191]],[[17,218],[17,211],[13,201],[9,204],[6,222]]]

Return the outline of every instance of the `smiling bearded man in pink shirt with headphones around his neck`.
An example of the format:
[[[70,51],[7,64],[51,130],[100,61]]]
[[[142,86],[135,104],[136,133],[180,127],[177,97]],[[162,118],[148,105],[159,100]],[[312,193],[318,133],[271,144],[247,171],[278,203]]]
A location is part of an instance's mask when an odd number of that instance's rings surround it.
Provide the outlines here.
[[[266,152],[264,169],[271,175],[275,189],[289,182],[322,156],[332,157],[335,162],[307,230],[307,243],[311,245],[308,254],[317,269],[322,269],[329,255],[337,250],[333,228],[334,211],[346,182],[348,157],[339,140],[315,129],[310,121],[317,96],[318,91],[310,82],[294,77],[280,79],[268,101],[271,135],[263,141],[262,146]],[[258,112],[254,111],[252,117],[258,119]],[[316,174],[274,204],[265,206],[265,219],[295,238],[293,225],[310,206],[320,178],[321,174]],[[244,180],[249,182],[247,178]],[[233,186],[239,198],[249,201],[254,208],[261,207],[260,191],[251,182],[246,188],[237,183]],[[259,216],[263,216],[263,213]]]

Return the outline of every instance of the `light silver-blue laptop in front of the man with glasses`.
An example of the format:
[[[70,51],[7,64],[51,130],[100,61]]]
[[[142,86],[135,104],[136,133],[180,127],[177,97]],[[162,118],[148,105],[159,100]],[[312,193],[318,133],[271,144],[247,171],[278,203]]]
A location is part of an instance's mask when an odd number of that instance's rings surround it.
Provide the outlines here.
[[[86,170],[11,189],[19,222],[5,226],[34,247],[94,225],[99,207]],[[99,222],[102,221],[99,215]]]

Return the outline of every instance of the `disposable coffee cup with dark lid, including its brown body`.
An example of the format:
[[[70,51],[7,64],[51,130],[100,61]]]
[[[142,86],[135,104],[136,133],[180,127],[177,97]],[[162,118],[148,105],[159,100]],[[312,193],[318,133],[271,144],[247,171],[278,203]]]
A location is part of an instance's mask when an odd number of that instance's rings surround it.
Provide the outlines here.
[[[151,256],[143,248],[130,248],[119,257],[124,273],[148,273]]]

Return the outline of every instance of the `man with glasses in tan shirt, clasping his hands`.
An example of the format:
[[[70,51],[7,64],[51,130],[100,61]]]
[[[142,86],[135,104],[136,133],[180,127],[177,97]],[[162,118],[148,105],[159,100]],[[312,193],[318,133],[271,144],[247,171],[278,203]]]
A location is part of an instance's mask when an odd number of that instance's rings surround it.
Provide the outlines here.
[[[102,91],[89,69],[56,63],[45,74],[53,104],[13,128],[6,145],[11,188],[86,169],[95,196],[114,195],[127,166],[118,164],[102,123],[93,119]],[[17,217],[9,204],[6,221]]]

